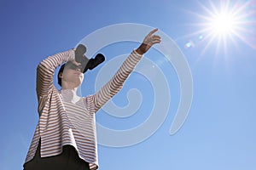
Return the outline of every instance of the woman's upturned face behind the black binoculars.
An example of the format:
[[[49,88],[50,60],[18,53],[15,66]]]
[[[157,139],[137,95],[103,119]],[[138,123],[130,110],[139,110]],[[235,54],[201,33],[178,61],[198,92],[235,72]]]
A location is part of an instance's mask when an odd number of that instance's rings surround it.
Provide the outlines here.
[[[61,84],[66,84],[70,88],[78,88],[84,80],[82,67],[75,61],[68,61],[61,74]]]

